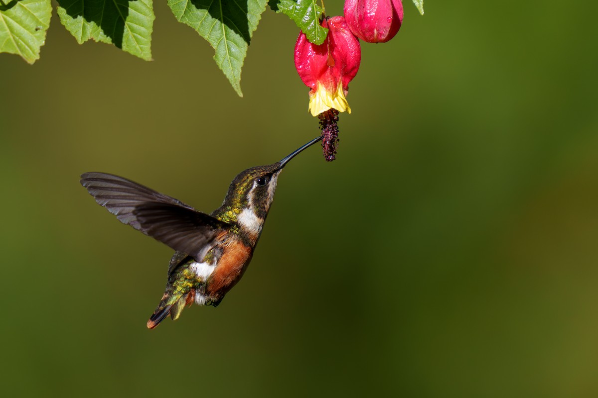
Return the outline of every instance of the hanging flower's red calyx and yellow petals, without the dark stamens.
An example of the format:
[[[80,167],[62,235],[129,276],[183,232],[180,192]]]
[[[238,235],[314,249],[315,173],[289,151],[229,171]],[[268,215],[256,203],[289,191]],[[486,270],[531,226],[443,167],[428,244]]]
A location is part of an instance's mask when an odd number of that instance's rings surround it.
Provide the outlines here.
[[[328,35],[321,45],[309,42],[303,32],[295,44],[295,67],[309,87],[309,111],[313,116],[328,109],[351,113],[346,95],[349,82],[359,70],[359,40],[347,28],[343,17],[325,18]]]

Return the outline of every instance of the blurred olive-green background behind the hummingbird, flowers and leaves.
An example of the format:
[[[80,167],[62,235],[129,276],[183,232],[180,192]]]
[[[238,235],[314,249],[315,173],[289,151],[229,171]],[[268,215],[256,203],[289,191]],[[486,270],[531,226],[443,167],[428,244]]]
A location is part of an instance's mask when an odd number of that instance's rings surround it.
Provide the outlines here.
[[[221,306],[148,331],[171,251],[78,176],[212,211],[318,135],[288,18],[264,14],[239,98],[155,12],[152,62],[55,13],[35,65],[0,54],[4,393],[598,396],[594,2],[405,2],[398,36],[362,45],[337,161],[289,164]]]

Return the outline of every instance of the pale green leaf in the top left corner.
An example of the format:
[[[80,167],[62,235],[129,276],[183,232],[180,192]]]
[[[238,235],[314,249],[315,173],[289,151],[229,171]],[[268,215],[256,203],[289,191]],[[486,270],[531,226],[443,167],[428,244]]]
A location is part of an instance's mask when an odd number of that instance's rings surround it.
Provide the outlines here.
[[[0,0],[0,53],[17,54],[34,63],[51,16],[50,0]]]

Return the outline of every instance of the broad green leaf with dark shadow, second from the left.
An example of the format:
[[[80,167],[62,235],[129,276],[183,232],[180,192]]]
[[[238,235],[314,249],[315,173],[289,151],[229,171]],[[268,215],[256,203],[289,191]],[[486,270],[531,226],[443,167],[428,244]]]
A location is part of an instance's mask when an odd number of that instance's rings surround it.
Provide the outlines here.
[[[93,39],[151,60],[152,0],[57,1],[60,22],[79,44]]]

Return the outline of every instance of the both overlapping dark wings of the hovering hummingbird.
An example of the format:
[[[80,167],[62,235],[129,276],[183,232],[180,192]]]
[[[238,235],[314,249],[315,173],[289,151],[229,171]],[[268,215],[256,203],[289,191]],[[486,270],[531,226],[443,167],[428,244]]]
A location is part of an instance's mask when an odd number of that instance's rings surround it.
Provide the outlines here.
[[[146,186],[102,172],[81,174],[81,185],[123,224],[160,240],[197,261],[230,224]]]

